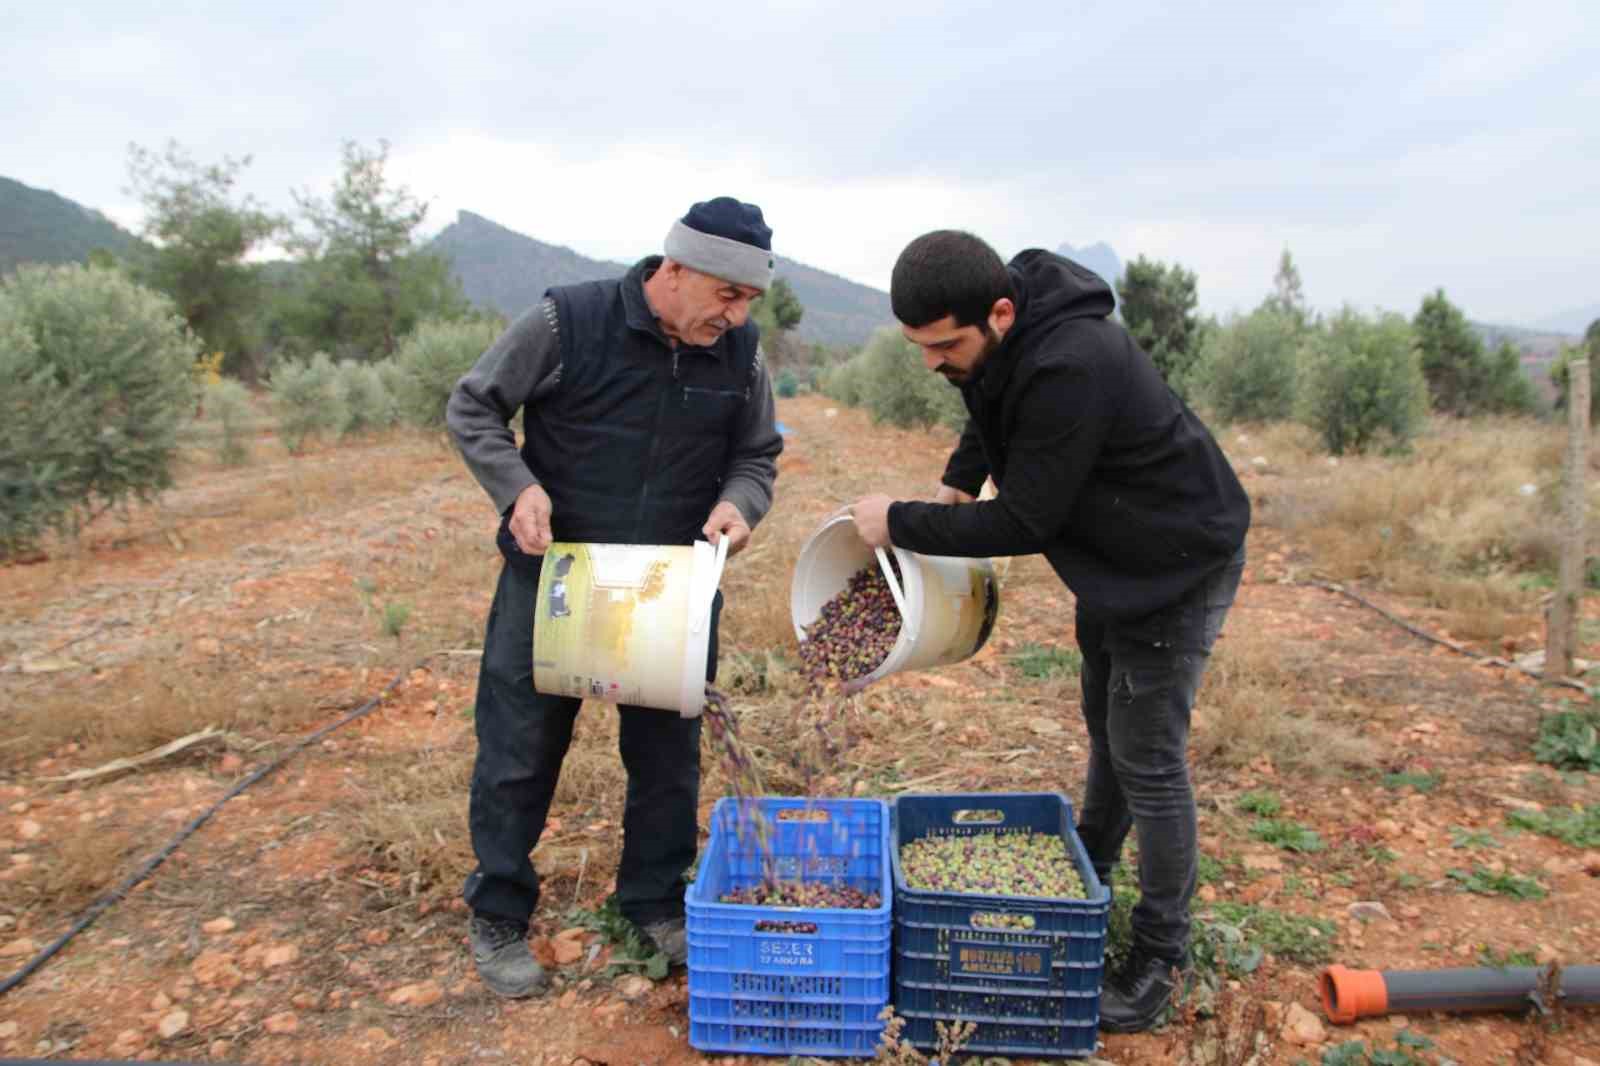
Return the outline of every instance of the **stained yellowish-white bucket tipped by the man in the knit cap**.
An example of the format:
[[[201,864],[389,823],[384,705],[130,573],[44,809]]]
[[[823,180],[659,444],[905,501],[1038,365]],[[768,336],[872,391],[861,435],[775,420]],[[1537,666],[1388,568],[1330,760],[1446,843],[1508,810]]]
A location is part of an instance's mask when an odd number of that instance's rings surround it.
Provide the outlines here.
[[[717,547],[550,544],[533,608],[533,687],[696,717],[726,559],[726,536]]]

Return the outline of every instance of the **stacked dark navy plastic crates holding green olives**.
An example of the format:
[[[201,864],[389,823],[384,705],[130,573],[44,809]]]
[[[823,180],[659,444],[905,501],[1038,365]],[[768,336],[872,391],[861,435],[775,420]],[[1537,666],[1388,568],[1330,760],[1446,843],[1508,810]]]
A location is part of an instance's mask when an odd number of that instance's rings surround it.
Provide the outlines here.
[[[965,812],[958,815],[958,812]],[[990,812],[997,816],[982,816]],[[1078,840],[1072,804],[1058,792],[901,795],[894,800],[894,1013],[904,1037],[938,1047],[936,1021],[971,1021],[966,1050],[989,1055],[1091,1055],[1110,892]],[[931,836],[1059,834],[1086,900],[918,892],[906,887],[899,848]],[[1022,916],[1032,928],[987,928],[974,916]]]

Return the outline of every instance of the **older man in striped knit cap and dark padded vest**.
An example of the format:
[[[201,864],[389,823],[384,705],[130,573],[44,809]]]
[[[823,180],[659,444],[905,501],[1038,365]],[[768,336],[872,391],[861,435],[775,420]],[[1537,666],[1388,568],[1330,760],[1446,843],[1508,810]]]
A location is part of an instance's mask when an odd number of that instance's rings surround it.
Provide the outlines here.
[[[666,258],[626,277],[549,290],[450,397],[467,467],[502,514],[506,557],[478,672],[470,831],[478,866],[462,890],[491,991],[531,996],[539,901],[530,852],[544,831],[579,701],[533,688],[533,605],[552,541],[746,546],[773,501],[782,439],[750,301],[773,279],[762,210],[730,197],[690,208]],[[509,427],[523,411],[518,451]],[[707,680],[717,669],[712,607]],[[627,768],[624,916],[669,960],[688,954],[683,871],[694,861],[701,720],[621,706]]]

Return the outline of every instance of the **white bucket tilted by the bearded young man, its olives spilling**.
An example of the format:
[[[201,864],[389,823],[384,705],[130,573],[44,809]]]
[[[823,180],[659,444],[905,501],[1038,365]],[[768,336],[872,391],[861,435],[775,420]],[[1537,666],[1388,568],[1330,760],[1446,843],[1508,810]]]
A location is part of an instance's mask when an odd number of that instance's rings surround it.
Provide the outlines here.
[[[899,562],[901,581],[888,567],[888,552]],[[875,671],[845,683],[859,691],[901,671],[920,671],[970,658],[984,647],[1000,610],[1000,587],[987,559],[923,555],[902,547],[874,551],[856,531],[848,511],[840,511],[800,547],[789,616],[795,637],[814,623],[822,605],[838,595],[862,567],[877,565],[898,594],[901,631],[894,647]]]

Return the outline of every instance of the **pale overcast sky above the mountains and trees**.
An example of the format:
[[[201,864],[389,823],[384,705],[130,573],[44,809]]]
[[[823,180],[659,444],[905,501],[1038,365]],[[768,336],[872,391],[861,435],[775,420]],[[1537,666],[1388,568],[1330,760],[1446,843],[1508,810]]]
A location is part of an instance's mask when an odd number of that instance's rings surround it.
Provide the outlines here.
[[[1320,307],[1600,303],[1594,0],[6,6],[0,174],[123,224],[130,141],[248,154],[288,210],[386,138],[430,230],[467,208],[598,258],[726,194],[878,288],[955,226],[1182,262],[1213,312],[1283,248]]]

